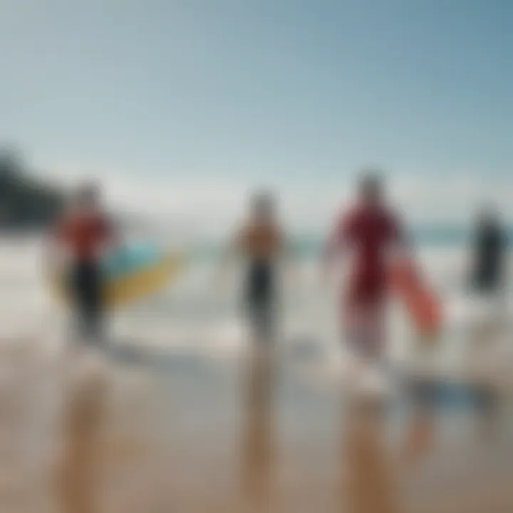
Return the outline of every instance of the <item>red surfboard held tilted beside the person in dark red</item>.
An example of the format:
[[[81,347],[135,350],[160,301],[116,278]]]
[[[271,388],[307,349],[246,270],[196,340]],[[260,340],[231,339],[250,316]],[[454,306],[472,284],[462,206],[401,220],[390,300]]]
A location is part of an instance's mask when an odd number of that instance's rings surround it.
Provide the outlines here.
[[[410,259],[395,261],[389,269],[390,289],[408,310],[420,336],[437,336],[442,326],[442,309],[435,293],[420,276]]]

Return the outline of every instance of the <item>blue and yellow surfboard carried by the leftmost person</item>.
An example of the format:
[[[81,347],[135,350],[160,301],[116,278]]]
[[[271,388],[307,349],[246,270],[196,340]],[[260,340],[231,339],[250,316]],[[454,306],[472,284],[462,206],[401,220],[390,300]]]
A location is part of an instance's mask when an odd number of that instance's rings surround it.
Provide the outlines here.
[[[185,267],[185,256],[163,252],[150,244],[130,245],[103,259],[105,302],[110,307],[136,301],[172,283]],[[66,272],[51,280],[58,296],[66,299]]]

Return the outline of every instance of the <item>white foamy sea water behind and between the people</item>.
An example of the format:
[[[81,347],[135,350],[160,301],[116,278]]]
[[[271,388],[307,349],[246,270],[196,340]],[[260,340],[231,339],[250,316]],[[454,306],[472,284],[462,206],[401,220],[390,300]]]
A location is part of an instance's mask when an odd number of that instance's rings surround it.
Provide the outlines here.
[[[341,340],[338,333],[336,280],[323,284],[319,274],[322,237],[296,237],[294,262],[284,266],[281,286],[281,346],[294,358],[317,358],[322,368],[338,360]],[[481,304],[465,292],[468,265],[468,233],[463,229],[427,227],[413,233],[415,252],[425,278],[442,302],[445,323],[440,353],[449,362],[461,354],[457,348],[480,316]],[[164,246],[183,243],[169,239]],[[115,312],[112,336],[120,344],[173,351],[197,351],[233,356],[244,344],[245,330],[240,309],[240,266],[224,286],[217,281],[221,246],[189,243],[190,255],[182,276],[167,289],[129,308]],[[509,257],[509,268],[512,268]],[[41,265],[41,239],[4,236],[0,250],[0,290],[2,323],[0,338],[31,338],[48,347],[58,347],[67,333],[67,315],[54,301]],[[508,311],[513,312],[513,288],[508,288]],[[405,309],[391,304],[390,353],[405,358],[414,346],[415,333]],[[314,355],[314,356],[312,356]]]

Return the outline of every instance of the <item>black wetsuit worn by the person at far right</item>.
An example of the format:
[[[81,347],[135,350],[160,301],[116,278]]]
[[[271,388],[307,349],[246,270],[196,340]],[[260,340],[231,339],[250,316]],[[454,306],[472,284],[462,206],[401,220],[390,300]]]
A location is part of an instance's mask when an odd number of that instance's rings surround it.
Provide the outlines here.
[[[488,224],[477,230],[475,267],[471,276],[472,288],[479,294],[499,291],[504,279],[506,236],[498,224]]]

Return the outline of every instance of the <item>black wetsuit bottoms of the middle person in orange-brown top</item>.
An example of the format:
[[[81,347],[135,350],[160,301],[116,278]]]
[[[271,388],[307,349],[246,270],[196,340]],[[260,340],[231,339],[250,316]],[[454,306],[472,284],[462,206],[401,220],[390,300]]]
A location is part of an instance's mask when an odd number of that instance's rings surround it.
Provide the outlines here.
[[[276,309],[274,264],[269,259],[252,259],[245,285],[245,304],[252,334],[259,342],[269,342],[274,336]]]

